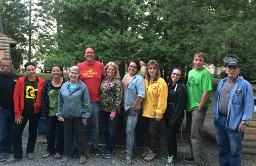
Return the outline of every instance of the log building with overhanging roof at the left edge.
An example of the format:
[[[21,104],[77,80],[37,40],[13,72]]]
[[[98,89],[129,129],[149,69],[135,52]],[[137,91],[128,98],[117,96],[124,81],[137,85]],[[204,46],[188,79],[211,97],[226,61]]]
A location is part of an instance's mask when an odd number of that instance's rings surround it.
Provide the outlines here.
[[[7,57],[12,60],[10,50],[11,47],[15,47],[16,44],[17,41],[0,32],[0,59]]]

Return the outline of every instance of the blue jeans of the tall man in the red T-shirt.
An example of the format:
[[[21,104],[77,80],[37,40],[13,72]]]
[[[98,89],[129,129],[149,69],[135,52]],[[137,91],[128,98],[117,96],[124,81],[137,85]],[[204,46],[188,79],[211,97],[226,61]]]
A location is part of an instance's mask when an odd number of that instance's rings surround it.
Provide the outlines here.
[[[91,111],[92,114],[90,116],[90,143],[91,148],[95,149],[98,148],[99,144],[99,101],[91,102]]]

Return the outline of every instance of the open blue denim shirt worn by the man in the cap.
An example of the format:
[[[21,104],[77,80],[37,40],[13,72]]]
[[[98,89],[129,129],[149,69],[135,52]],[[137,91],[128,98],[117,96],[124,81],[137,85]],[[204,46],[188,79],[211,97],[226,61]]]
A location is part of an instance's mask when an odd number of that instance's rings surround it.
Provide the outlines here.
[[[228,77],[221,80],[218,84],[215,93],[215,103],[214,103],[214,117],[213,123],[215,123],[219,117],[219,97],[220,89],[222,88]],[[254,112],[254,99],[252,85],[238,77],[236,79],[236,84],[234,85],[230,99],[228,102],[228,118],[226,123],[226,129],[236,130],[241,120],[250,120]]]

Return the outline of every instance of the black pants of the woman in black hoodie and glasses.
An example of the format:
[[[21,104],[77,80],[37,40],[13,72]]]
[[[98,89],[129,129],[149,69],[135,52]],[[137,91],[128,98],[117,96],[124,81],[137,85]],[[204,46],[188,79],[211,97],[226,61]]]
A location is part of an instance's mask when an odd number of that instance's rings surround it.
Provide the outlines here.
[[[167,153],[168,155],[173,155],[177,158],[177,139],[176,132],[180,128],[181,124],[175,123],[173,126],[169,124],[169,121],[165,120],[166,124],[166,143],[167,143]]]

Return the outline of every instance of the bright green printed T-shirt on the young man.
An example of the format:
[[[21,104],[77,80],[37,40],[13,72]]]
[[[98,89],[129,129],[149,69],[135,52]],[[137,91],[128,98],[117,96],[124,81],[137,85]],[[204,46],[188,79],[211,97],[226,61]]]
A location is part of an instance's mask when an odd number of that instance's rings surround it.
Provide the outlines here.
[[[186,111],[192,111],[199,106],[203,93],[206,91],[212,91],[212,74],[206,68],[199,71],[190,70],[187,82]],[[209,100],[210,96],[204,108],[209,107]]]

